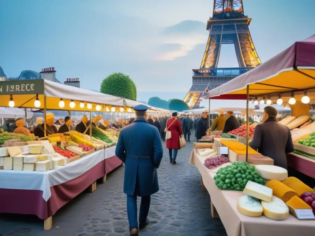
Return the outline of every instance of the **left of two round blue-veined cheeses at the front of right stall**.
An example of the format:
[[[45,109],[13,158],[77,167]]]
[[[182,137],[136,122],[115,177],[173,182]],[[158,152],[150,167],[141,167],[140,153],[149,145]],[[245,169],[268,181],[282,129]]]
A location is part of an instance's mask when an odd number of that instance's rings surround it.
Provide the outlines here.
[[[262,216],[262,205],[260,200],[248,195],[244,195],[238,199],[237,209],[245,216],[259,217]]]

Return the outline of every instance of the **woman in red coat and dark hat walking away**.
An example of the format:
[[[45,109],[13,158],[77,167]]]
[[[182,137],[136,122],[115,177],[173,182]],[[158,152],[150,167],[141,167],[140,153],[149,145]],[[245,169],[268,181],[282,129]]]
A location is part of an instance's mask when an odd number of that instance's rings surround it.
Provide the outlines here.
[[[166,139],[166,148],[169,149],[169,161],[170,163],[176,164],[176,156],[178,149],[180,149],[179,138],[183,135],[181,123],[177,120],[177,112],[172,114],[172,118],[169,118],[166,122],[166,128],[172,133],[172,138]],[[174,149],[174,155],[172,158],[172,149]]]

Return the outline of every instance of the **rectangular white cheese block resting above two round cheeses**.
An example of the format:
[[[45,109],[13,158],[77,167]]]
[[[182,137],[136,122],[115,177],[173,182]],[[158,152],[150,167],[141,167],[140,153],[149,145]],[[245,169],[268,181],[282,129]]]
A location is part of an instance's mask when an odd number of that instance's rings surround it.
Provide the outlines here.
[[[244,190],[244,194],[252,196],[254,198],[258,198],[267,202],[271,201],[272,198],[272,189],[268,188],[264,185],[259,183],[255,183],[253,181],[248,181]]]

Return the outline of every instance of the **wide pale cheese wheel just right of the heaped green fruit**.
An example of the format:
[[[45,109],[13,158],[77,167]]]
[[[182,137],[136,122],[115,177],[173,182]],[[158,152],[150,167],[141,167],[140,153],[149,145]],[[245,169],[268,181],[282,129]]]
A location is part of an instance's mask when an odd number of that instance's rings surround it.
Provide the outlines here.
[[[255,169],[264,179],[284,181],[288,178],[288,171],[279,166],[255,165]]]

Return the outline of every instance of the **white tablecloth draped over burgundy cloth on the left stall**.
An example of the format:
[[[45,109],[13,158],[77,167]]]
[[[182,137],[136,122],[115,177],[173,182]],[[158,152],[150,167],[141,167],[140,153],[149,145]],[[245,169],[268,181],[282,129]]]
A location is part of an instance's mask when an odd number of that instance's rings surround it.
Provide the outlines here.
[[[115,147],[114,153],[115,153]],[[105,150],[82,157],[66,166],[58,166],[57,170],[49,171],[13,171],[0,170],[0,188],[42,190],[43,199],[48,201],[51,196],[50,187],[65,183],[83,175],[86,171],[105,160]]]

